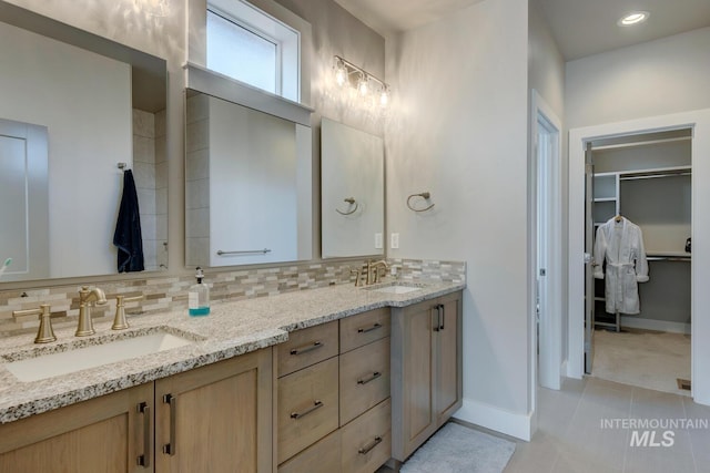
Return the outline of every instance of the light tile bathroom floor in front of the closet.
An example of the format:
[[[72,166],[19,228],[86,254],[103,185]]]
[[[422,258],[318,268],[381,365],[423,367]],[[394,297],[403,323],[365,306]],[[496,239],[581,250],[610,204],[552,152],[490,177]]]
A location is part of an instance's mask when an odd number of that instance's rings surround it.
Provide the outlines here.
[[[538,391],[538,431],[517,442],[505,473],[710,473],[710,429],[671,429],[670,446],[632,446],[632,429],[604,419],[692,419],[710,424],[710,407],[684,395],[586,378]],[[659,429],[657,442],[665,429]]]

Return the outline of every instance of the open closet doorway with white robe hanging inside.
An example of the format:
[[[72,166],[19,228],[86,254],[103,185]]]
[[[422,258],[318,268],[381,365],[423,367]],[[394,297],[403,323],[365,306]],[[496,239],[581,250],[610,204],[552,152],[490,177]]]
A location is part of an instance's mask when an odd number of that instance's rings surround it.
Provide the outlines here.
[[[598,137],[586,373],[690,395],[692,130]],[[589,329],[594,332],[589,333]]]

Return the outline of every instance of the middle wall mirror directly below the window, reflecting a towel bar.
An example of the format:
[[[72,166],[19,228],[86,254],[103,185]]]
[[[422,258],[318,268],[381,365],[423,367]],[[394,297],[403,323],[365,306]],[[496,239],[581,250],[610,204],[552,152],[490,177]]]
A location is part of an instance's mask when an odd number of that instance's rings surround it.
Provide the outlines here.
[[[312,258],[310,126],[187,90],[185,136],[187,266]]]

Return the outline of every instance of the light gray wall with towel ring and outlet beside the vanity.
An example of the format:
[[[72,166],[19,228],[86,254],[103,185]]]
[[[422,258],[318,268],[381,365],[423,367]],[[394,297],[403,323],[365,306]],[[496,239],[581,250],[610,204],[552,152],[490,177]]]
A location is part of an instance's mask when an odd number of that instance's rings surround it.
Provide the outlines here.
[[[388,256],[467,261],[457,415],[494,429],[530,410],[527,29],[527,0],[487,0],[387,39]],[[409,210],[424,191],[435,207]]]

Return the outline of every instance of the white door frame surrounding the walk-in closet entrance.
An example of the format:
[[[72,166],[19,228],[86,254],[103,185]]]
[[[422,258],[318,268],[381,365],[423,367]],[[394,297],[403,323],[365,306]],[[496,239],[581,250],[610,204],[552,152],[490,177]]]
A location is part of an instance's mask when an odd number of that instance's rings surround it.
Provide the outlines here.
[[[710,336],[710,213],[700,203],[710,202],[710,109],[585,126],[569,131],[568,203],[568,362],[567,376],[584,374],[584,143],[655,131],[692,128],[692,239],[691,266],[691,376],[696,402],[710,405],[710,345],[696,343]],[[700,208],[699,208],[700,207]],[[704,312],[704,313],[703,313]]]

